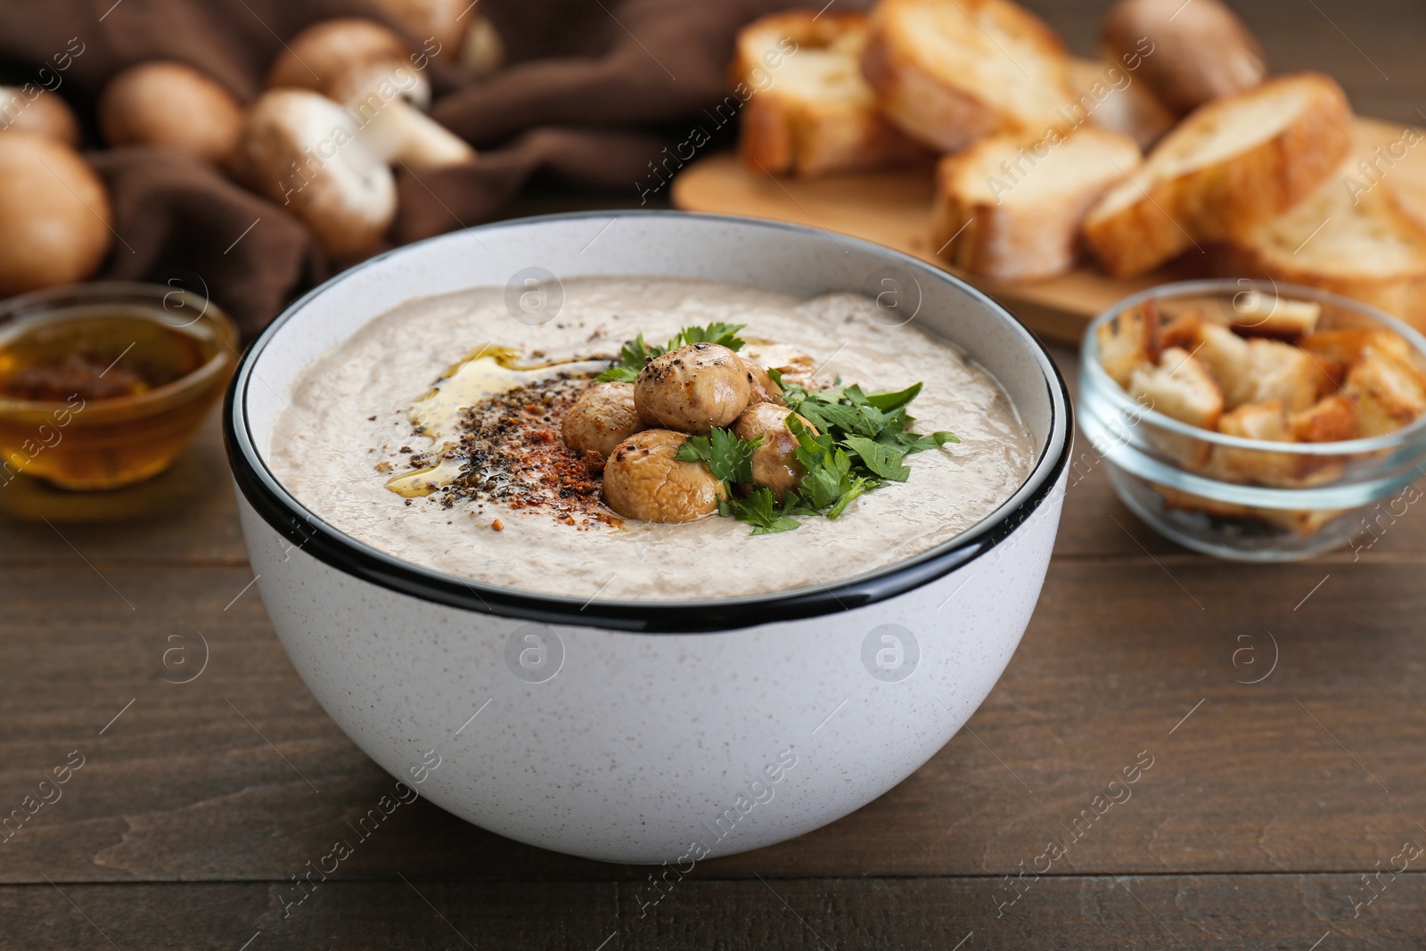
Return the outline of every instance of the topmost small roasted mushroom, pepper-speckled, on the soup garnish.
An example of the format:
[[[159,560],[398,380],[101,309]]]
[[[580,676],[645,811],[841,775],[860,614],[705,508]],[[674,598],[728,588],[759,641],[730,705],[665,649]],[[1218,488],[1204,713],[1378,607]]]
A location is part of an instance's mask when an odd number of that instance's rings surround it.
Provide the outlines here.
[[[650,426],[706,433],[747,408],[743,359],[719,344],[689,344],[645,364],[633,385],[639,416]]]

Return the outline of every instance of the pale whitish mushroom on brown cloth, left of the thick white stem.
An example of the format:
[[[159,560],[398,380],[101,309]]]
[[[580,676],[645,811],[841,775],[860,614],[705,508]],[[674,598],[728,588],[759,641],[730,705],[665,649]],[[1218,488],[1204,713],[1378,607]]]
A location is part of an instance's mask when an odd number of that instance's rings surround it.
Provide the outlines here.
[[[232,171],[305,221],[338,259],[374,251],[396,214],[391,168],[356,140],[347,110],[308,90],[254,103]]]

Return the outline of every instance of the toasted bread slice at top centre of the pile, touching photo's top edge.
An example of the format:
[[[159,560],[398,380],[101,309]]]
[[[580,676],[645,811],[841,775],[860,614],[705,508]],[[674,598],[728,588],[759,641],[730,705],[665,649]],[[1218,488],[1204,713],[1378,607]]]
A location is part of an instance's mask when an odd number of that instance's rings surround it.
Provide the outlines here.
[[[861,73],[891,123],[941,151],[1074,125],[1064,46],[1010,0],[881,0]]]

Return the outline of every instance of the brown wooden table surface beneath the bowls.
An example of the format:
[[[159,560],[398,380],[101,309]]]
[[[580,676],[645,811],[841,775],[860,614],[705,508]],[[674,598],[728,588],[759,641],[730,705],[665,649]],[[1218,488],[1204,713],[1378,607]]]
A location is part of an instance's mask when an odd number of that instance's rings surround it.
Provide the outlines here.
[[[1038,6],[1091,44],[1099,4]],[[1275,63],[1328,66],[1363,111],[1405,121],[1426,88],[1420,6],[1242,6]],[[268,624],[212,422],[171,472],[88,502],[124,520],[0,515],[0,816],[27,816],[0,833],[3,950],[1426,947],[1423,510],[1309,563],[1215,562],[1129,515],[1082,439],[1002,680],[858,813],[640,911],[646,868],[419,801],[284,915],[389,778]],[[1012,878],[1137,759],[1129,800]]]

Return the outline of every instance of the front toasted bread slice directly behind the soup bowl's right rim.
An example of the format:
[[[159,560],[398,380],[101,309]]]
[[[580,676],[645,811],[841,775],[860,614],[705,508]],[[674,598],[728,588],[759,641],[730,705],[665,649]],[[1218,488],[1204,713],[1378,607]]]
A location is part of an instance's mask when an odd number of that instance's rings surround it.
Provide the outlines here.
[[[992,278],[1064,274],[1085,211],[1141,161],[1132,138],[1101,128],[983,138],[937,167],[935,247],[951,264]]]

